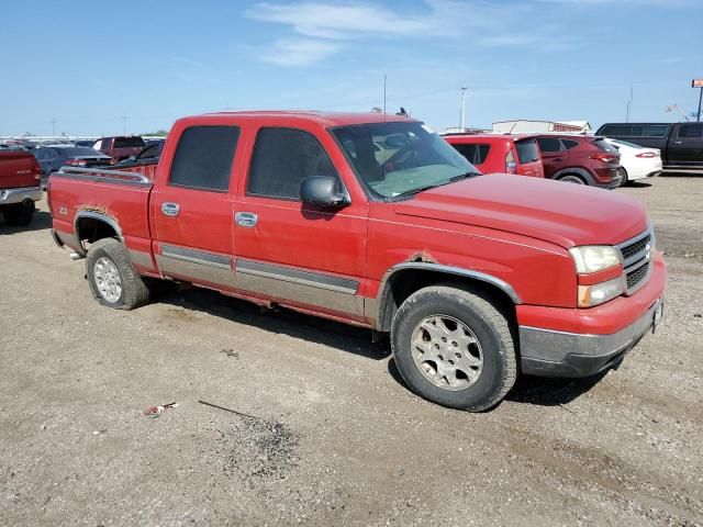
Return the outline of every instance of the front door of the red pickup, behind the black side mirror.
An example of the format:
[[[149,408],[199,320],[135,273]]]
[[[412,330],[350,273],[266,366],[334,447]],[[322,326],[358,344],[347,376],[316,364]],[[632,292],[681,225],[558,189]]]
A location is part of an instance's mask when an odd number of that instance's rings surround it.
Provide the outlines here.
[[[312,132],[274,126],[256,134],[248,177],[235,202],[237,288],[360,321],[368,202],[352,199],[336,210],[301,203],[300,183],[310,176],[335,177],[348,191],[339,176],[348,170],[342,154],[326,132]]]

